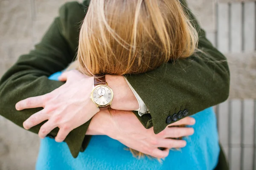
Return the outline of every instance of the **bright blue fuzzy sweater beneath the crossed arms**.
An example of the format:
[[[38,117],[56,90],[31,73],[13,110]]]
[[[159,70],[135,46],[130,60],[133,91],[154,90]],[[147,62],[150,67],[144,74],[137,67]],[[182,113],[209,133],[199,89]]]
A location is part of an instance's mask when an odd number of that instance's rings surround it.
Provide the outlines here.
[[[57,80],[60,72],[49,79]],[[93,136],[87,149],[74,159],[65,142],[41,139],[36,170],[212,170],[220,152],[216,117],[212,108],[196,113],[195,133],[184,138],[186,147],[170,150],[160,163],[157,159],[134,158],[125,145],[108,136]]]

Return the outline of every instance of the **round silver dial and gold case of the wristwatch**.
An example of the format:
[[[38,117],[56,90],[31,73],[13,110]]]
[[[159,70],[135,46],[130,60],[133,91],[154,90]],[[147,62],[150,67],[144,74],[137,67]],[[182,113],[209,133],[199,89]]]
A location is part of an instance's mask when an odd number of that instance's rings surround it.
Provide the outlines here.
[[[91,94],[93,102],[100,106],[106,106],[113,100],[113,91],[107,85],[97,85]]]

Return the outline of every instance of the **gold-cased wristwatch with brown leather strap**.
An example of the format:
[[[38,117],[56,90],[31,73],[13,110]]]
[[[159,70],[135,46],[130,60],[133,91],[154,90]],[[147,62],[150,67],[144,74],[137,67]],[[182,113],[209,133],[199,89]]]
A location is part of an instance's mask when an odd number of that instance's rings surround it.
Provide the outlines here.
[[[110,108],[113,100],[113,91],[108,86],[105,76],[94,77],[93,90],[90,99],[98,108]]]

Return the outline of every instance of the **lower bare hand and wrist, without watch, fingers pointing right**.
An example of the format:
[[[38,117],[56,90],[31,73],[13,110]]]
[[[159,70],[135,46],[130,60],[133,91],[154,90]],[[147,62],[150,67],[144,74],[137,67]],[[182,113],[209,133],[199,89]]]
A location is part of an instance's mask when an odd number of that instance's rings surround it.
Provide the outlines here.
[[[195,119],[186,117],[169,125],[165,130],[154,134],[153,128],[145,129],[131,111],[112,110],[100,111],[90,122],[87,135],[108,135],[127,147],[156,158],[165,158],[170,148],[186,146],[186,141],[168,138],[190,136],[194,133],[192,127],[174,127],[177,125],[194,125]],[[169,148],[160,150],[158,147]]]

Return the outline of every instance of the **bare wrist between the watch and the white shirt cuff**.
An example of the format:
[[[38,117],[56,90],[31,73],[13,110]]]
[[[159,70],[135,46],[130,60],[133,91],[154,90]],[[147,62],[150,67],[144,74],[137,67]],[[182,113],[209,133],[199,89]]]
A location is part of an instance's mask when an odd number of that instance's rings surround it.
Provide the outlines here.
[[[123,76],[107,74],[105,78],[114,95],[111,108],[124,111],[139,108],[139,103]]]

